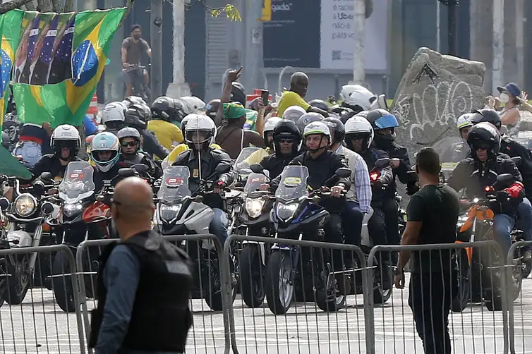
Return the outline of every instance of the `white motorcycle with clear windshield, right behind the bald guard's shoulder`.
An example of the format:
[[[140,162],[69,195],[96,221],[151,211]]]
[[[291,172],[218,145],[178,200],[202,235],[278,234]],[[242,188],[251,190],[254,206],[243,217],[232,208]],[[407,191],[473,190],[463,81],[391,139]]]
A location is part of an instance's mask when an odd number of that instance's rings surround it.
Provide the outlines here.
[[[164,170],[162,182],[157,193],[157,209],[153,222],[161,235],[194,235],[209,233],[209,226],[214,217],[210,207],[203,204],[205,195],[212,193],[216,175],[226,173],[230,166],[217,166],[213,176],[200,182],[194,193],[188,188],[191,171],[187,166],[168,166]],[[222,279],[217,251],[212,240],[183,240],[181,246],[195,260],[199,274],[195,274],[193,298],[203,298],[215,311],[222,310]],[[231,259],[232,260],[232,259]],[[230,266],[234,264],[230,262]],[[233,286],[233,300],[236,287]]]

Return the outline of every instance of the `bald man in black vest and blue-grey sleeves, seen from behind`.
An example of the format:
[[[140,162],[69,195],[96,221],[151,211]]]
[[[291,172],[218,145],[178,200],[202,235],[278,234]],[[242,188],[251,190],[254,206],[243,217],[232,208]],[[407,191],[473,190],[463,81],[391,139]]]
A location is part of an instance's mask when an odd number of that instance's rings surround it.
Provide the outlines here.
[[[150,185],[117,183],[111,213],[121,242],[103,252],[89,346],[95,354],[183,353],[192,325],[188,255],[152,231]]]

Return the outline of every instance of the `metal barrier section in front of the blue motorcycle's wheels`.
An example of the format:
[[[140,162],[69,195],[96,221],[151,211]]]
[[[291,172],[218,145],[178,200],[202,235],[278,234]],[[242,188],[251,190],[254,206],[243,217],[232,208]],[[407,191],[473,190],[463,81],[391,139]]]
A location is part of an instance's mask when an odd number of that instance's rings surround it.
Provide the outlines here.
[[[271,252],[274,243],[285,249]],[[289,246],[301,250],[299,257],[288,249]],[[322,257],[323,252],[330,250],[328,259],[327,255]],[[364,353],[366,342],[370,341],[364,333],[370,307],[365,305],[367,299],[364,300],[368,294],[363,293],[363,289],[368,284],[365,283],[365,257],[360,248],[308,240],[231,235],[225,242],[224,255],[225,259],[232,257],[239,275],[240,294],[234,304],[227,304],[234,353]],[[344,297],[346,303],[341,297],[337,297],[335,303],[332,296],[333,300],[326,303],[323,288],[327,281],[318,271],[327,269],[327,263],[334,270],[338,262],[341,268],[349,257],[358,267],[344,274],[358,281],[349,286],[353,291],[358,290],[359,295]],[[279,278],[289,279],[290,274],[303,276],[291,276],[291,283],[279,281]],[[338,273],[331,281],[345,286],[344,282],[349,279],[342,280]],[[358,289],[354,289],[355,285]],[[289,302],[291,305],[286,309]]]

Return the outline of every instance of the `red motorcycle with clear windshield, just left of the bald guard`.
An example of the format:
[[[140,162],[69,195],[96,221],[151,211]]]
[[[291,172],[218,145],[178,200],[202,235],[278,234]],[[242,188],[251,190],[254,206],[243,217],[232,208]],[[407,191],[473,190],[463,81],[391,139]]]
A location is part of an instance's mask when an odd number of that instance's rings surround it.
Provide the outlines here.
[[[121,169],[119,176],[131,169]],[[75,257],[78,245],[85,240],[114,238],[111,233],[111,209],[103,202],[104,195],[109,193],[111,181],[104,181],[102,193],[95,195],[93,181],[94,169],[86,161],[73,161],[66,167],[63,181],[59,184],[60,213],[54,225],[57,234],[61,235],[60,243],[67,245]],[[131,176],[127,174],[127,176]],[[125,177],[125,176],[123,176]],[[62,230],[61,230],[62,229]],[[61,232],[62,231],[62,232]],[[85,255],[84,255],[85,256]],[[83,269],[78,269],[85,280],[85,292],[88,298],[94,297],[93,284],[99,264],[98,248],[89,248],[87,257],[83,257]],[[57,252],[52,263],[52,282],[54,295],[59,307],[65,312],[74,312],[74,296],[69,274],[75,269],[70,269],[68,257],[64,252]]]

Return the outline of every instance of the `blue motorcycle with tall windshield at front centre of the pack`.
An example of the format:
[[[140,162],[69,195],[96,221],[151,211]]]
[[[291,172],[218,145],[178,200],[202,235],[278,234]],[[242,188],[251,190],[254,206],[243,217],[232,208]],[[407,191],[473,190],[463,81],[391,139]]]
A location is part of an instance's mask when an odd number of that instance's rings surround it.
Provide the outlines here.
[[[330,197],[327,185],[332,184],[334,178],[349,176],[350,169],[338,169],[322,189],[309,193],[306,166],[286,166],[270,213],[275,238],[325,240],[324,226],[330,214],[318,202],[321,197]],[[344,307],[346,297],[338,290],[332,259],[329,252],[322,251],[282,243],[272,245],[265,276],[266,298],[272,313],[280,315],[289,310],[296,288],[303,293],[310,291],[300,284],[313,285],[312,298],[321,310],[336,311]],[[314,262],[315,259],[320,261]]]

